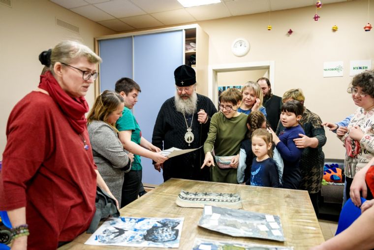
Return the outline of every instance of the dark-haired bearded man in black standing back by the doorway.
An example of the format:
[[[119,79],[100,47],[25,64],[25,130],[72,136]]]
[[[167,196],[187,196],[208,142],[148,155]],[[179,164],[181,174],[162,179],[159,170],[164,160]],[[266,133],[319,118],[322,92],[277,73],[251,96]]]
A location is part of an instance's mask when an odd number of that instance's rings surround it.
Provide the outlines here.
[[[279,96],[272,94],[272,89],[268,78],[261,77],[257,80],[257,83],[260,85],[262,94],[264,95],[264,102],[262,105],[266,108],[266,120],[270,123],[273,131],[276,131],[280,117],[282,99]]]

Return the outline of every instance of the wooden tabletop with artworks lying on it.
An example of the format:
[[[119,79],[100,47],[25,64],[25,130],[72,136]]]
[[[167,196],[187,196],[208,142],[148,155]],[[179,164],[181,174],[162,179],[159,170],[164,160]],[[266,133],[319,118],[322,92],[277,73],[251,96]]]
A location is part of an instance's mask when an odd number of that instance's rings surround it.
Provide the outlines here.
[[[202,209],[182,208],[175,203],[181,189],[191,192],[240,193],[243,209],[280,216],[284,242],[255,238],[232,237],[197,225]],[[240,241],[278,246],[293,246],[307,250],[324,241],[312,202],[307,191],[256,187],[186,179],[170,179],[121,209],[121,216],[130,217],[185,217],[179,249],[192,249],[194,239]],[[84,245],[91,234],[82,234],[59,250],[130,249],[117,246]],[[139,250],[141,248],[131,248]],[[149,248],[159,250],[159,248]]]

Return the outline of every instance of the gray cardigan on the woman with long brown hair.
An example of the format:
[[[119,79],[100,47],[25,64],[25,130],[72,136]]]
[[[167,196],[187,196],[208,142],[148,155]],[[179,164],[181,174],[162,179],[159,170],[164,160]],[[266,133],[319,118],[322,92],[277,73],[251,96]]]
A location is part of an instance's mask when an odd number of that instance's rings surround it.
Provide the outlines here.
[[[124,172],[130,171],[128,152],[117,132],[106,122],[92,121],[87,128],[97,170],[114,197],[121,202]]]

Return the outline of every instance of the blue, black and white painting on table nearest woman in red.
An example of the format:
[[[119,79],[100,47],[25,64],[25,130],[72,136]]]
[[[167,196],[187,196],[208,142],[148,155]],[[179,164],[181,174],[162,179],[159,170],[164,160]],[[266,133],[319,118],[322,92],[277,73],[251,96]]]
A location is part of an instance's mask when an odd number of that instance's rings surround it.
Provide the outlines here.
[[[86,245],[178,248],[184,218],[119,217],[105,221]]]

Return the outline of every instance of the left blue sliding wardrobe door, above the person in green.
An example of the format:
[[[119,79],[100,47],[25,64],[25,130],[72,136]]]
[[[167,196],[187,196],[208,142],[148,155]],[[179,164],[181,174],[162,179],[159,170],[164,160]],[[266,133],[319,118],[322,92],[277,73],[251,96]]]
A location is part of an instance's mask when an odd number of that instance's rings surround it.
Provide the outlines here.
[[[100,93],[113,90],[122,77],[132,78],[132,36],[99,40]]]

